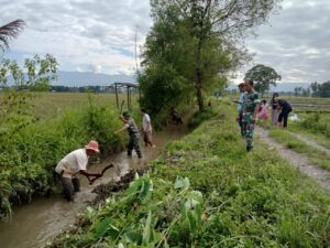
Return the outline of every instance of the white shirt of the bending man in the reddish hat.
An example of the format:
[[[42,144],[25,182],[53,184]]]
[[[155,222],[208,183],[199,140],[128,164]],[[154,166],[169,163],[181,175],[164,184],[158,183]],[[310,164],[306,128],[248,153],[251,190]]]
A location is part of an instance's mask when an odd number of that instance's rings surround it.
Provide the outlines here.
[[[64,171],[63,176],[72,177],[77,174],[80,170],[87,169],[88,155],[86,149],[81,148],[68,153],[64,157],[55,168],[55,171],[61,174]]]

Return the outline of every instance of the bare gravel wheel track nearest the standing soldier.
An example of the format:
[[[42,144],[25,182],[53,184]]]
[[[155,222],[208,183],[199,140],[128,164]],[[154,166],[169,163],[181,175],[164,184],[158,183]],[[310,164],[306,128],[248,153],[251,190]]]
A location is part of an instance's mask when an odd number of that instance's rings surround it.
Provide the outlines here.
[[[311,164],[306,154],[297,153],[287,149],[284,144],[270,137],[270,132],[261,127],[255,128],[255,134],[265,141],[271,148],[276,149],[279,157],[289,162],[289,164],[307,174],[318,182],[323,188],[330,191],[330,177],[326,170]]]

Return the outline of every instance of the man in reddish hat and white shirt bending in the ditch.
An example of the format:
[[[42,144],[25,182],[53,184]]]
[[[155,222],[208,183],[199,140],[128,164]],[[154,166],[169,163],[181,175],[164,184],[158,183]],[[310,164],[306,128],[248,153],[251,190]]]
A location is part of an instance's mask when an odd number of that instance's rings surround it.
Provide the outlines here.
[[[89,182],[91,176],[101,176],[100,173],[87,172],[88,158],[96,153],[99,153],[99,144],[91,140],[85,148],[68,153],[58,162],[55,171],[61,177],[64,197],[67,201],[74,201],[75,193],[80,191],[80,182],[76,177],[78,173],[85,175]]]

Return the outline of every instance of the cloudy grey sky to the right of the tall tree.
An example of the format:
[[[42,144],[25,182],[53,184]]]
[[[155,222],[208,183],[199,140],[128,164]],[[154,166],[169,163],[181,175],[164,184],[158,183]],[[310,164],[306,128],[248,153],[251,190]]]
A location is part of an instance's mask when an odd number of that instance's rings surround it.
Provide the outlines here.
[[[255,64],[276,69],[285,83],[323,83],[330,79],[330,2],[285,0],[278,14],[248,40]]]

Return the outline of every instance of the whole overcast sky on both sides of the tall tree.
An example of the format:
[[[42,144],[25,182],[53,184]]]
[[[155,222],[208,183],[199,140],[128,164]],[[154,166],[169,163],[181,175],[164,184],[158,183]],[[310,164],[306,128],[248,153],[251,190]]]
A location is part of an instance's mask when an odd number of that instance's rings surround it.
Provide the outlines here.
[[[330,79],[330,0],[284,0],[246,44],[255,64],[275,68],[284,83]],[[51,53],[59,69],[133,74],[134,35],[143,44],[152,25],[148,0],[0,0],[0,25],[23,19],[28,26],[6,57],[23,61]]]

